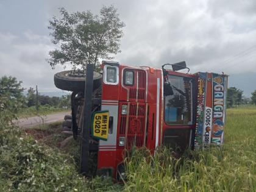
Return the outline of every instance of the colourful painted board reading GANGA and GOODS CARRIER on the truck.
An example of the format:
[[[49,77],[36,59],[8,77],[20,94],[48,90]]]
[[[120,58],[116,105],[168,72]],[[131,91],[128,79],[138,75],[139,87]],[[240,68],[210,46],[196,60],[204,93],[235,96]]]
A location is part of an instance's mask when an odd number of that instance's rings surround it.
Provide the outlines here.
[[[197,112],[195,149],[224,142],[226,120],[227,75],[197,73]]]

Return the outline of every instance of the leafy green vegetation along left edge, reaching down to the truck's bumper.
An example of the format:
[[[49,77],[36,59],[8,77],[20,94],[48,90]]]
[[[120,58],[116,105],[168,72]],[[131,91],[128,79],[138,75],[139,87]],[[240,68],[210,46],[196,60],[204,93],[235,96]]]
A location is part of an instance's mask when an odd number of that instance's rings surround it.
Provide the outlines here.
[[[37,141],[33,137],[35,134],[10,124],[23,106],[8,94],[0,94],[0,101],[1,191],[119,191],[121,186],[113,185],[110,179],[82,177],[77,172],[73,155],[54,144]],[[41,129],[41,132],[52,134],[47,141],[58,138],[54,125],[36,129],[36,132]]]

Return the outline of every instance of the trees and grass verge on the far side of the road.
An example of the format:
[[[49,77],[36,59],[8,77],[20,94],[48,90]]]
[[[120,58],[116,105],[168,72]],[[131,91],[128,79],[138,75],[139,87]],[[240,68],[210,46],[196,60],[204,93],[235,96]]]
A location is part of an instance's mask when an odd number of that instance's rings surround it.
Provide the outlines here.
[[[70,110],[69,94],[62,97],[36,95],[35,90],[31,87],[26,93],[24,92],[26,89],[21,84],[22,82],[16,77],[0,77],[0,107],[7,104],[7,100],[9,100],[8,102],[11,104],[9,110],[12,110],[10,114],[13,115],[13,118],[42,116]]]

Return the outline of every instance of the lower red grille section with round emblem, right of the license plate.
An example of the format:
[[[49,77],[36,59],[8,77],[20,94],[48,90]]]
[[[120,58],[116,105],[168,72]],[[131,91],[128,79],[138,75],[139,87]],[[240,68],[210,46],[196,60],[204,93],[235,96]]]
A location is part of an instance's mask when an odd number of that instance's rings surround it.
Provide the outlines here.
[[[120,109],[121,109],[121,105],[119,105]],[[119,114],[120,113],[121,113],[121,110],[119,111]],[[146,113],[146,104],[130,103],[127,130],[126,130],[127,115],[121,115],[121,118],[119,121],[119,137],[127,137],[126,138],[127,149],[130,149],[132,146],[137,146],[137,147],[143,146],[145,116],[146,116],[145,113]],[[127,135],[126,135],[126,132],[127,132]],[[118,137],[118,140],[119,140],[119,137]]]

